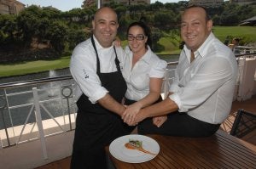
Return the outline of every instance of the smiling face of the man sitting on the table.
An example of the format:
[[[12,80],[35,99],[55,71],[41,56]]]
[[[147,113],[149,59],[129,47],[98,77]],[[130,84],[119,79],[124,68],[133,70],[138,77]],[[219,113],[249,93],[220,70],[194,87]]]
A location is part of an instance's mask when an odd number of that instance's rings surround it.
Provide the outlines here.
[[[200,7],[188,8],[182,16],[181,37],[187,47],[195,52],[205,42],[212,30],[212,20]]]

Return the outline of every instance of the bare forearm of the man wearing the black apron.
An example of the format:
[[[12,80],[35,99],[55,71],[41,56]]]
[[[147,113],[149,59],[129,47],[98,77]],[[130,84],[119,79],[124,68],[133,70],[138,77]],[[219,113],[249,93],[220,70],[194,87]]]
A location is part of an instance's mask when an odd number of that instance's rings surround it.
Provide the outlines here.
[[[119,102],[113,99],[112,96],[110,96],[108,93],[102,99],[99,99],[98,103],[101,104],[105,109],[108,109],[120,116],[123,115],[125,111],[125,106],[119,104]]]

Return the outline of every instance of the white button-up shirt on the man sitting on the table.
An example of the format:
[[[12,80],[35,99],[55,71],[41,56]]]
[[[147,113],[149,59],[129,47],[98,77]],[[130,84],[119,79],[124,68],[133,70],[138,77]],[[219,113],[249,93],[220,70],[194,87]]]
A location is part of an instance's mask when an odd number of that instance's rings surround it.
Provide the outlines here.
[[[230,113],[236,84],[237,63],[230,48],[211,33],[195,51],[190,64],[190,50],[184,45],[169,96],[179,112],[200,121],[222,123]],[[184,121],[185,122],[185,121]]]

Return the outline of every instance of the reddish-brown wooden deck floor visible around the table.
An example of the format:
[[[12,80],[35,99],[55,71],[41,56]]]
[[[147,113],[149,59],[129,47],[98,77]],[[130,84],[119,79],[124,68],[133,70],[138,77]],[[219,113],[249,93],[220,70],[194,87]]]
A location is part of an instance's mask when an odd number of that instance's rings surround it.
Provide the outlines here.
[[[221,125],[221,128],[225,132],[230,132],[233,121],[235,120],[235,117],[236,117],[236,111],[238,109],[243,109],[243,110],[247,110],[247,111],[250,111],[250,112],[256,112],[256,95],[253,95],[252,99],[248,99],[246,101],[242,101],[242,102],[234,101],[233,102],[232,108],[230,110],[230,116]],[[249,139],[249,140],[246,140],[246,139]],[[248,142],[250,142],[251,139],[252,138],[245,138],[245,140],[248,141]],[[256,139],[253,139],[253,141],[255,142]],[[251,144],[255,144],[255,143],[251,143]],[[67,158],[62,159],[60,161],[55,161],[55,162],[49,163],[49,164],[44,165],[44,166],[39,166],[36,169],[69,169],[70,161],[71,161],[71,158],[67,157]]]

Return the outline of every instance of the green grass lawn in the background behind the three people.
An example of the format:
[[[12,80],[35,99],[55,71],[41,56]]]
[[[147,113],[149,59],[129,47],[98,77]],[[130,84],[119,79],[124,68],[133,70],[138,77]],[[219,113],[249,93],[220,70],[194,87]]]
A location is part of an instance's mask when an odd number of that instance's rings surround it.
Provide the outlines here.
[[[256,27],[255,26],[214,26],[212,29],[216,37],[220,41],[224,42],[227,36],[240,37],[241,42],[256,41]],[[127,41],[122,42],[123,45],[127,44]],[[164,48],[163,51],[157,54],[179,54],[179,37],[172,38],[166,35],[159,41],[160,46]],[[55,60],[38,60],[17,64],[0,65],[0,77],[3,76],[19,76],[28,73],[36,73],[45,70],[57,70],[67,68],[69,65],[70,56],[62,57]]]

